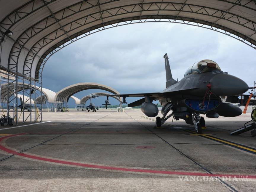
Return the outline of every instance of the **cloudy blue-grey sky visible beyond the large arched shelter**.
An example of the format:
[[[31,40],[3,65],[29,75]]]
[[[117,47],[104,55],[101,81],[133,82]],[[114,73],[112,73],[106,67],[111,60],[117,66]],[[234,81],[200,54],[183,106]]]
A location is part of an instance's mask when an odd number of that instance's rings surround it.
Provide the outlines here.
[[[43,87],[57,92],[71,84],[96,82],[120,93],[162,91],[165,53],[174,79],[182,79],[193,63],[210,59],[249,86],[256,80],[256,50],[236,39],[195,26],[140,23],[94,33],[55,53],[44,67]],[[74,96],[81,99],[95,91],[99,90]],[[136,99],[128,98],[128,102]],[[100,105],[104,100],[94,103]],[[111,104],[117,102],[111,100]]]

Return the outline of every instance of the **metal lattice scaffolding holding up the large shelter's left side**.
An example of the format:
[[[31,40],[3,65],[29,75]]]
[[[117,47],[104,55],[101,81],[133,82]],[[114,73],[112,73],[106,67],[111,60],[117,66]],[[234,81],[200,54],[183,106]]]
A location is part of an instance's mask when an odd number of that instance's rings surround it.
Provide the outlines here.
[[[42,121],[42,104],[35,102],[36,96],[42,95],[42,81],[24,78],[3,70],[0,74],[0,114],[12,117],[16,125],[21,122],[21,119],[22,123]]]

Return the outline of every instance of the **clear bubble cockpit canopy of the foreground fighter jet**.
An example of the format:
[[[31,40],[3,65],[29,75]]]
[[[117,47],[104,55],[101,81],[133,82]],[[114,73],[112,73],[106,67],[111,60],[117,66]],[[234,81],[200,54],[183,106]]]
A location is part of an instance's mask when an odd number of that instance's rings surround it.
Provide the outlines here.
[[[188,70],[186,71],[184,76],[186,76],[188,74],[206,73],[206,72],[211,72],[214,70],[221,71],[221,69],[217,63],[215,63],[212,60],[202,60],[197,63],[194,63],[192,68],[188,68]]]

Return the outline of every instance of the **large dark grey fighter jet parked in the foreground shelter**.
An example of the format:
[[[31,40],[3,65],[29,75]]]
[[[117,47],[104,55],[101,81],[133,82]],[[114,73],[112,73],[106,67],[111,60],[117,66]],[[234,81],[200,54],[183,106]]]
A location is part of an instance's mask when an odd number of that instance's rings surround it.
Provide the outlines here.
[[[167,54],[164,60],[166,89],[162,92],[113,96],[123,97],[123,103],[127,103],[126,97],[144,97],[128,104],[128,107],[141,105],[141,111],[148,117],[158,115],[159,110],[152,102],[159,100],[163,106],[163,117],[156,117],[156,128],[161,128],[173,116],[175,120],[184,119],[187,124],[194,125],[196,132],[201,134],[205,121],[200,114],[206,114],[209,118],[241,115],[242,110],[238,106],[223,103],[220,96],[236,96],[246,92],[251,87],[243,80],[221,71],[219,65],[212,60],[201,60],[188,68],[183,79],[176,81],[172,78]]]

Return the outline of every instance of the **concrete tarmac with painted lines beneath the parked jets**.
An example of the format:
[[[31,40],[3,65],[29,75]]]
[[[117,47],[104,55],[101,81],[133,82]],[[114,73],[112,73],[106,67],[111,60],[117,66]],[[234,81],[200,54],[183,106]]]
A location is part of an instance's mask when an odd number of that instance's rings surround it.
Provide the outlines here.
[[[250,114],[205,118],[201,135],[136,109],[43,120],[0,127],[1,191],[255,191],[256,137],[229,135]]]

